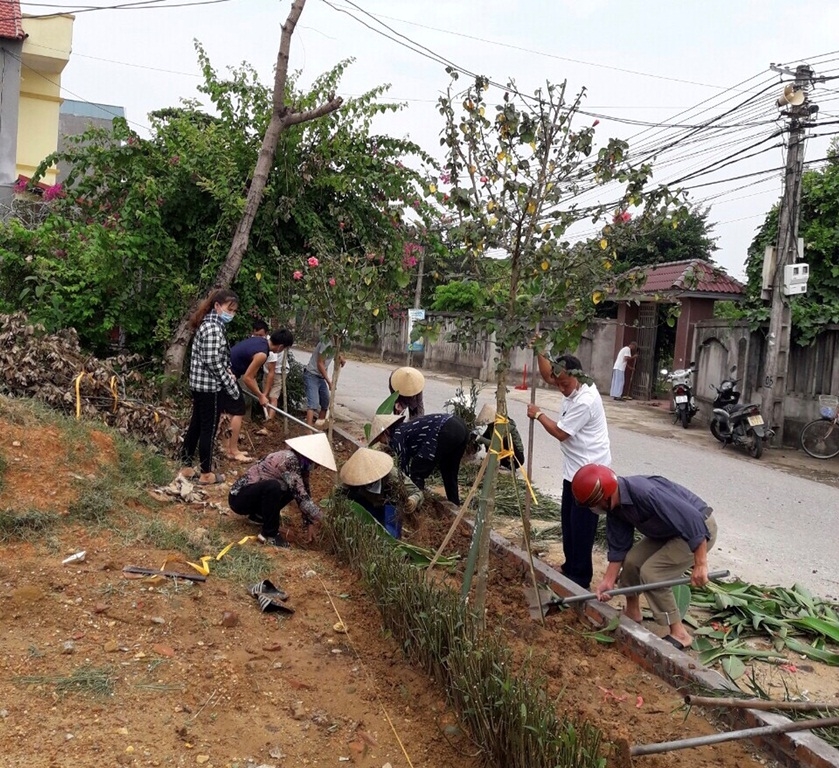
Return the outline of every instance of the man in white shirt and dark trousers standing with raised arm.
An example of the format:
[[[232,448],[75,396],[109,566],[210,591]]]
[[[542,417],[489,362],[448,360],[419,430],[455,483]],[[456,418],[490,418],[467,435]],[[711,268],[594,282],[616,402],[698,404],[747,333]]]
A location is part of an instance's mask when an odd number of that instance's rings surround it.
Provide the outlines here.
[[[560,355],[551,363],[538,357],[539,373],[565,396],[562,416],[552,421],[537,405],[527,406],[527,415],[538,421],[545,431],[559,440],[562,449],[562,551],[565,562],[561,571],[575,584],[588,590],[594,575],[592,549],[597,532],[597,517],[574,500],[571,481],[585,464],[612,463],[609,430],[603,401],[594,384],[585,384],[582,363],[573,355]]]

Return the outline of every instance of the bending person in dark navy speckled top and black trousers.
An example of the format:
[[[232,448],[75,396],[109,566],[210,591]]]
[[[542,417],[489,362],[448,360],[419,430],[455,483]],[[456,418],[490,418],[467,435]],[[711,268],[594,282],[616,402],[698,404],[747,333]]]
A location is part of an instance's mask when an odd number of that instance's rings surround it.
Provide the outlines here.
[[[433,413],[404,423],[402,416],[376,416],[369,444],[381,442],[396,457],[400,469],[425,490],[435,467],[443,476],[446,498],[460,505],[457,473],[469,442],[469,429],[460,416]]]

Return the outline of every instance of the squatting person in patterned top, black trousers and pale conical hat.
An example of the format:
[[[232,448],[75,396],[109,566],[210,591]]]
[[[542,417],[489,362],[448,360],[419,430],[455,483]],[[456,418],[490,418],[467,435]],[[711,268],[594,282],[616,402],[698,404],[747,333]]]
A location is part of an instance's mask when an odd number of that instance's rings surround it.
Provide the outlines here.
[[[336,470],[335,456],[323,433],[292,437],[287,448],[269,453],[254,464],[231,487],[227,504],[237,515],[262,526],[259,540],[274,547],[287,547],[280,533],[280,511],[296,501],[308,530],[307,541],[314,535],[314,524],[323,517],[312,501],[309,475],[313,464]]]

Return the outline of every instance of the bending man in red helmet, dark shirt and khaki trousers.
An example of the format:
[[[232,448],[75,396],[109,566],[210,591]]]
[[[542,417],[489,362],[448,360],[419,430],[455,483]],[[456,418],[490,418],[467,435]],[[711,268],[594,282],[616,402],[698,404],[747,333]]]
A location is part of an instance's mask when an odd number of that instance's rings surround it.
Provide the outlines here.
[[[690,583],[708,583],[708,550],[717,540],[713,510],[684,486],[657,475],[618,477],[609,467],[581,467],[572,483],[574,497],[596,514],[606,515],[609,565],[597,585],[597,597],[610,599],[620,575],[621,587],[680,578],[693,565]],[[644,538],[635,542],[635,530]],[[670,588],[646,593],[653,618],[670,632],[664,637],[684,650],[693,638],[682,624]],[[641,621],[640,595],[626,596],[624,613]]]

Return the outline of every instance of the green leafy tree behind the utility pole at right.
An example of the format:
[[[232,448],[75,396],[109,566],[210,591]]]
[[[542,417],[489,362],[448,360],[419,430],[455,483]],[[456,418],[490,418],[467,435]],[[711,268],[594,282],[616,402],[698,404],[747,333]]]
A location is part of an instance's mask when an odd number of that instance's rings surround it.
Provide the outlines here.
[[[793,339],[802,346],[812,344],[825,325],[839,323],[839,142],[833,142],[828,158],[826,166],[806,171],[802,179],[798,232],[804,239],[803,261],[810,265],[810,280],[806,294],[790,297]],[[769,321],[769,302],[761,299],[763,259],[766,247],[777,240],[775,206],[749,247],[747,300],[730,309],[754,327]]]

